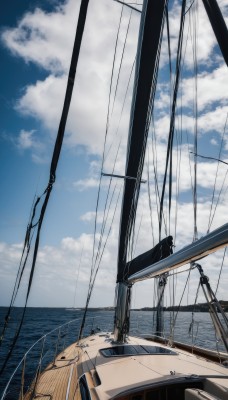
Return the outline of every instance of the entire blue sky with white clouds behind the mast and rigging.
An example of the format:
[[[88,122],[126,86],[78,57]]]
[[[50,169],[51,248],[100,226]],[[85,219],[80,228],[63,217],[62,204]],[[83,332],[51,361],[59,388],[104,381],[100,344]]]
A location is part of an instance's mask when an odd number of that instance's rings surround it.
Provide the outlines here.
[[[220,0],[218,3],[227,21],[228,3],[226,0]],[[195,6],[198,7],[198,20],[194,20],[190,12],[186,16],[189,22],[186,24],[185,38],[188,38],[188,41],[184,42],[187,44],[184,53],[181,95],[177,106],[179,117],[176,120],[177,133],[174,143],[173,193],[175,194],[179,190],[179,197],[177,201],[176,196],[173,196],[174,211],[170,216],[170,225],[167,224],[167,232],[165,232],[163,224],[163,236],[166,233],[173,234],[177,250],[189,244],[193,238],[191,193],[193,157],[189,156],[189,152],[193,150],[195,121],[192,117],[192,109],[196,104],[194,102],[195,92],[192,89],[192,83],[194,84],[192,51],[194,24],[197,26],[198,32],[199,154],[218,158],[228,112],[227,67],[216,45],[202,4],[195,2]],[[0,89],[0,305],[7,306],[16,279],[31,207],[35,196],[41,195],[48,183],[50,161],[61,116],[77,25],[79,1],[33,0],[31,2],[24,0],[15,2],[9,0],[7,3],[2,3],[0,7],[2,71]],[[89,3],[63,150],[43,224],[29,306],[83,307],[85,304],[93,259],[94,217],[106,132],[112,63],[121,12],[122,6],[114,1],[91,0]],[[179,1],[171,2],[172,54],[177,47],[179,14]],[[124,7],[113,72],[109,129],[104,150],[103,171],[107,173],[112,173],[115,164],[114,172],[124,175],[134,75],[131,75],[131,70],[137,48],[139,18],[140,13],[131,12],[130,9]],[[118,78],[118,65],[121,62],[126,35],[125,53],[121,74]],[[139,199],[139,217],[136,220],[135,228],[137,241],[133,246],[133,255],[148,250],[158,241],[157,199],[151,161],[154,159],[156,164],[159,190],[161,190],[170,110],[166,35],[164,35],[163,42],[164,49],[162,48],[161,52],[154,109],[154,128],[150,129],[146,155],[146,159],[150,163],[148,168],[145,166],[143,173],[144,178],[147,179],[147,170],[149,170],[153,228],[151,228],[148,185],[146,184],[142,187]],[[174,57],[172,66],[174,70]],[[118,88],[114,95],[117,81]],[[114,97],[115,103],[113,102]],[[123,106],[124,97],[126,101]],[[156,136],[156,151],[155,145],[152,145],[153,135]],[[227,129],[223,144],[223,151],[219,158],[227,161]],[[216,169],[217,163],[207,159],[198,159],[197,224],[199,237],[205,235],[208,229]],[[180,178],[177,177],[179,171],[181,171]],[[220,191],[221,196],[218,207],[215,209],[215,205],[213,206],[215,217],[212,230],[227,222],[228,191],[226,188],[228,182],[226,172],[227,166],[220,163],[214,198],[217,201]],[[99,247],[99,232],[102,229],[108,187],[109,178],[103,177],[98,207],[95,254]],[[106,240],[107,243],[91,298],[91,306],[114,305],[122,187],[121,179],[112,180],[107,202],[109,213],[105,214],[107,224],[103,234],[103,243],[106,243]],[[167,209],[165,213],[167,213]],[[165,218],[167,220],[167,216]],[[109,230],[110,225],[111,229]],[[102,246],[101,249],[103,249]],[[203,268],[212,276],[211,282],[214,289],[217,285],[222,258],[223,251],[220,251],[202,261]],[[94,259],[96,259],[96,255]],[[185,268],[187,269],[188,266]],[[227,300],[228,275],[226,269],[227,256],[222,271],[222,284],[218,291],[218,297]],[[175,285],[178,284],[176,291],[176,301],[178,302],[184,288],[186,275],[185,277],[175,275],[173,279]],[[23,304],[27,280],[28,270],[25,271],[16,305]],[[197,272],[193,271],[191,283],[194,289],[189,289],[189,285],[185,292],[185,303],[194,302],[198,281]],[[171,286],[171,284],[169,285]],[[151,280],[134,285],[132,306],[138,308],[153,305],[153,287],[154,283]],[[171,288],[167,291],[166,302],[169,300],[170,293]],[[199,299],[204,301],[202,296]]]

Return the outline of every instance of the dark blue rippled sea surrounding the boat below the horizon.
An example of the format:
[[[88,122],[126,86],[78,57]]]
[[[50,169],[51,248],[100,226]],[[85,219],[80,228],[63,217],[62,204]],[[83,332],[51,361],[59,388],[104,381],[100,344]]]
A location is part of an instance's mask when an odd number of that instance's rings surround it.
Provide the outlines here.
[[[0,329],[2,331],[7,309],[0,307]],[[173,313],[165,312],[165,337],[170,335]],[[21,308],[15,308],[8,324],[2,346],[0,347],[0,367],[9,351],[9,345],[15,334],[15,329],[22,315]],[[78,338],[80,322],[83,312],[81,310],[63,308],[28,308],[21,329],[20,336],[7,366],[0,377],[0,398],[7,382],[12,377],[14,370],[20,363],[17,372],[13,376],[7,389],[6,399],[17,399],[25,371],[25,386],[34,380],[37,369],[44,368],[52,362],[55,356],[64,347]],[[174,314],[175,316],[175,314]],[[113,311],[89,311],[86,318],[84,333],[94,331],[112,331]],[[130,333],[151,335],[155,328],[155,315],[151,311],[131,311]],[[194,317],[194,320],[192,319]],[[58,328],[60,327],[61,328]],[[190,326],[193,328],[189,331]],[[50,334],[48,334],[51,332]],[[42,338],[43,337],[43,338]],[[42,338],[42,339],[40,339]],[[208,313],[197,312],[192,316],[191,312],[180,312],[177,315],[174,339],[182,343],[224,351],[223,345],[216,341],[213,325]],[[21,362],[24,354],[33,344],[36,345]]]

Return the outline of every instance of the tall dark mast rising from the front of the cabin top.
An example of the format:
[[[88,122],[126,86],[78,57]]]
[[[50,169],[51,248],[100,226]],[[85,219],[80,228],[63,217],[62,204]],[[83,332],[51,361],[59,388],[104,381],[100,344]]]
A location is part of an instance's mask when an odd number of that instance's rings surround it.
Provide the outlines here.
[[[129,330],[131,285],[127,282],[127,250],[135,222],[166,4],[167,0],[144,0],[141,15],[125,168],[125,176],[135,179],[125,179],[119,231],[114,327],[114,338],[117,342],[124,342]]]

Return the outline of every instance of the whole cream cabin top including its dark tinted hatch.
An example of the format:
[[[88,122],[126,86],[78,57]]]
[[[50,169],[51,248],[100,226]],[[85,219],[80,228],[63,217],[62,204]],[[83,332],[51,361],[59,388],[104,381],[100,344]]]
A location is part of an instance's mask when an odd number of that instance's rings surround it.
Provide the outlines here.
[[[187,388],[205,390],[209,384],[210,393],[228,399],[225,366],[187,351],[135,337],[118,345],[105,333],[84,339],[79,347],[79,384],[87,400],[185,399]]]

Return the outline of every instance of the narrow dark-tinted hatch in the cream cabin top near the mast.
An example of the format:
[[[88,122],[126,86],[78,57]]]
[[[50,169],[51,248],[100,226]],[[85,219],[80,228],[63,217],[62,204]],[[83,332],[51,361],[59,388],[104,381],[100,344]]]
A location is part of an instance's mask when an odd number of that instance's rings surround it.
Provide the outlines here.
[[[101,349],[100,353],[104,357],[137,356],[137,355],[176,355],[174,351],[159,346],[140,346],[125,345],[113,346]]]

